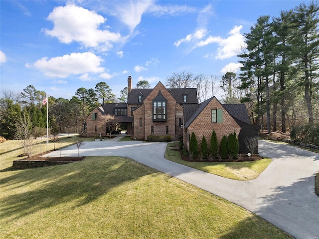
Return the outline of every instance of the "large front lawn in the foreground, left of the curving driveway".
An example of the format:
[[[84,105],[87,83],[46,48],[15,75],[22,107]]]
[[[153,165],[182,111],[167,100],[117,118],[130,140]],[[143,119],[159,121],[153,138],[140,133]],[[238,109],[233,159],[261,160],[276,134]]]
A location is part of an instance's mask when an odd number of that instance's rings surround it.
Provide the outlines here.
[[[128,158],[12,170],[21,151],[15,148],[0,157],[1,238],[292,238],[235,204]]]

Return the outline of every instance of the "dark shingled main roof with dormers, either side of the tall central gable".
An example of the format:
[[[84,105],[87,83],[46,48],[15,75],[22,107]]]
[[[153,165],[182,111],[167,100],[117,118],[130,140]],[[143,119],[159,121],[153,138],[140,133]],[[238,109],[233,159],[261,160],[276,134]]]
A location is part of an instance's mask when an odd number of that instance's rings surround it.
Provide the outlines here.
[[[144,99],[153,89],[132,89],[128,94],[128,104],[142,104]],[[198,104],[196,88],[167,89],[178,104]],[[142,94],[142,102],[138,102],[139,95]],[[184,102],[183,95],[187,95],[187,102]]]

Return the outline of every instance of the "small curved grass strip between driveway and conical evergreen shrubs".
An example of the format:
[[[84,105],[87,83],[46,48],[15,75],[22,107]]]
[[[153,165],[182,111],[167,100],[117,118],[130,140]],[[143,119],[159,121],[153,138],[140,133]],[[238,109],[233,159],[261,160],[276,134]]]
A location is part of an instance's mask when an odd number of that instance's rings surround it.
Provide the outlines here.
[[[167,144],[165,159],[229,179],[255,179],[271,163],[269,158],[246,162],[188,162],[181,159],[178,151],[172,150],[173,146],[173,143]]]

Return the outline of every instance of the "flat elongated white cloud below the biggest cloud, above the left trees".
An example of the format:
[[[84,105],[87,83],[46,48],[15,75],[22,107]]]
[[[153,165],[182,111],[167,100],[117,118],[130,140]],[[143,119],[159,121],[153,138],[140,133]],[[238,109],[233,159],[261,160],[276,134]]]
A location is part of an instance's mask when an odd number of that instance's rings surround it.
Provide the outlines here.
[[[101,73],[104,67],[101,67],[102,58],[91,52],[71,53],[48,59],[43,57],[37,60],[33,66],[44,72],[49,77],[66,78],[69,75],[78,75],[84,73]],[[30,67],[27,63],[26,67]]]

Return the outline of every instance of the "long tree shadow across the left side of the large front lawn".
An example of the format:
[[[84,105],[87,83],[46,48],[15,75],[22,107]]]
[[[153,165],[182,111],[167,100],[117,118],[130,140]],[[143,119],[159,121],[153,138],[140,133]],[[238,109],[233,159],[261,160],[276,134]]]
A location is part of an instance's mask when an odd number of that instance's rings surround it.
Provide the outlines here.
[[[12,171],[0,180],[1,217],[11,223],[72,201],[80,207],[112,188],[155,172],[123,157],[90,157],[73,164]]]

